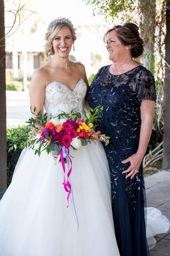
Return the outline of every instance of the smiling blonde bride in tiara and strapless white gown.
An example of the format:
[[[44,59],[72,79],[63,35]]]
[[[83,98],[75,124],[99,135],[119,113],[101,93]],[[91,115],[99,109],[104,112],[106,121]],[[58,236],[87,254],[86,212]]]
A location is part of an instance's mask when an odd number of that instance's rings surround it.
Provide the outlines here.
[[[79,111],[83,118],[88,81],[84,66],[68,54],[75,29],[68,19],[50,22],[45,56],[54,55],[33,74],[31,106],[58,115]],[[43,152],[22,152],[12,183],[0,203],[1,256],[119,256],[111,209],[111,186],[100,143],[73,150],[72,204],[66,207],[61,164]]]

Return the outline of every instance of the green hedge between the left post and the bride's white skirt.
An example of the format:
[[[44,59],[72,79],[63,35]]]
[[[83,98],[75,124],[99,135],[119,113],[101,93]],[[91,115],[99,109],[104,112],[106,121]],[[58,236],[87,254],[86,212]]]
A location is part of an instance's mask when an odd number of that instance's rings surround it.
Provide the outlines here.
[[[29,127],[18,126],[6,130],[7,146],[7,184],[10,185],[15,165],[20,156],[24,143],[29,136]]]

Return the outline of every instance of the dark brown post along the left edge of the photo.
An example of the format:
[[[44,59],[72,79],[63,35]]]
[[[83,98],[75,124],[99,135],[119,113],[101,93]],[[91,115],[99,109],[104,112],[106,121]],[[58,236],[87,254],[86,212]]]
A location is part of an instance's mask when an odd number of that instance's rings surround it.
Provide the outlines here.
[[[6,189],[6,84],[5,84],[5,40],[4,1],[0,0],[0,199]]]

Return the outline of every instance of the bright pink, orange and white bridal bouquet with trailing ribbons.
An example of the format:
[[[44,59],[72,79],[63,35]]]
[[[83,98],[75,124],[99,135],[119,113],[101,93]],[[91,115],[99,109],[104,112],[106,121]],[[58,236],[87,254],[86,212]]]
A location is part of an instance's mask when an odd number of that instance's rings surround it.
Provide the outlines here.
[[[35,150],[38,156],[44,150],[48,154],[52,152],[54,156],[59,156],[64,172],[63,186],[68,193],[67,201],[72,192],[69,180],[72,172],[70,148],[77,150],[97,140],[103,141],[105,145],[109,143],[109,137],[101,134],[100,131],[95,131],[95,122],[102,114],[102,107],[90,108],[90,111],[86,120],[81,117],[81,113],[75,113],[72,110],[69,114],[63,112],[55,117],[50,116],[50,118],[47,113],[38,113],[35,118],[29,118],[27,121],[31,132],[26,147]],[[34,112],[35,109],[31,111],[31,113]]]

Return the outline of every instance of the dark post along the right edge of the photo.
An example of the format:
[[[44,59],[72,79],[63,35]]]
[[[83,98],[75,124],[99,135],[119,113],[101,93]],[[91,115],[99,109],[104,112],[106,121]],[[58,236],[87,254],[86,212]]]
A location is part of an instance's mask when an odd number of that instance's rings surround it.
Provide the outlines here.
[[[166,7],[166,69],[164,79],[164,157],[163,168],[170,170],[170,0]]]

